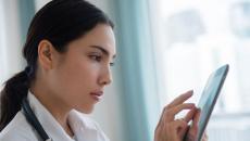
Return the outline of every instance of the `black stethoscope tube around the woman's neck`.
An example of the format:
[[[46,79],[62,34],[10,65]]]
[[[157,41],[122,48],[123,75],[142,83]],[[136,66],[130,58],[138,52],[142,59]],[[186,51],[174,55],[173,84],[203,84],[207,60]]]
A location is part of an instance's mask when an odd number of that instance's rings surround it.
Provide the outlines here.
[[[24,111],[24,116],[26,120],[35,128],[35,130],[40,136],[40,138],[43,141],[52,141],[52,139],[49,138],[49,136],[46,133],[45,129],[42,128],[41,124],[37,119],[26,98],[24,98],[22,101],[22,108]]]

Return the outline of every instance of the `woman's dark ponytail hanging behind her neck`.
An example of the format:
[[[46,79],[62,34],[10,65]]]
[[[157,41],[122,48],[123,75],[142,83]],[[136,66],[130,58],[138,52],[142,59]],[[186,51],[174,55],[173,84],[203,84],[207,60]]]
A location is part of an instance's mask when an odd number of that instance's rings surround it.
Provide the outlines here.
[[[0,131],[13,119],[21,110],[23,98],[29,87],[28,75],[25,70],[10,78],[1,91]]]

